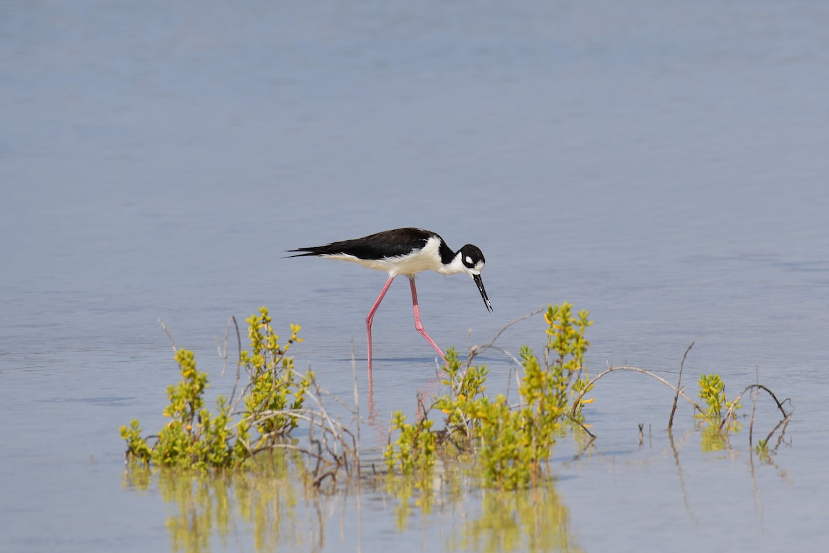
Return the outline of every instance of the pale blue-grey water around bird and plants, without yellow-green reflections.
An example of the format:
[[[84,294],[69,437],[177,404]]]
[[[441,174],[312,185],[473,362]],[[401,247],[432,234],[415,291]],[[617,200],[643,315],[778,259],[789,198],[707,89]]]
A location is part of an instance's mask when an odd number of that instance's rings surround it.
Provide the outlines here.
[[[493,314],[465,276],[419,277],[443,347],[571,301],[596,321],[596,370],[676,371],[696,339],[690,391],[759,371],[792,398],[788,445],[754,480],[747,430],[733,459],[702,454],[681,406],[678,476],[670,392],[606,377],[594,454],[562,444],[553,467],[585,551],[821,550],[827,29],[822,2],[4,2],[0,550],[169,549],[172,507],[122,487],[117,432],[162,424],[177,370],[158,318],[221,392],[225,321],[268,305],[303,325],[298,366],[351,397],[385,276],[283,251],[408,225],[487,256]],[[414,412],[434,355],[405,281],[374,337],[376,411]],[[536,318],[500,344],[543,339]],[[507,361],[486,361],[497,387]],[[457,513],[400,531],[392,503],[343,500],[342,527],[306,546],[448,547]],[[242,529],[213,549],[253,546]]]

